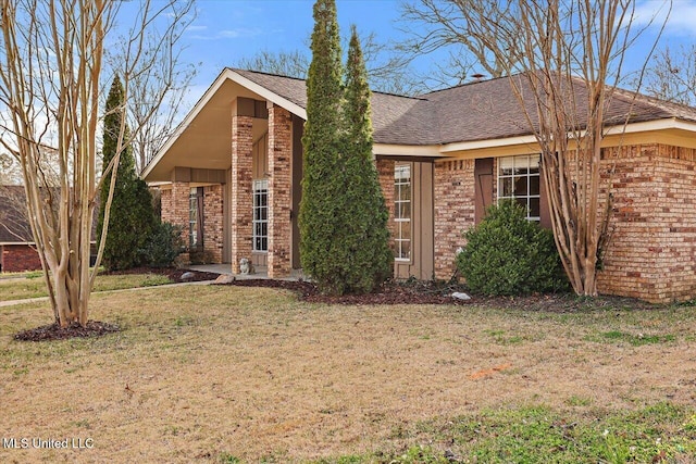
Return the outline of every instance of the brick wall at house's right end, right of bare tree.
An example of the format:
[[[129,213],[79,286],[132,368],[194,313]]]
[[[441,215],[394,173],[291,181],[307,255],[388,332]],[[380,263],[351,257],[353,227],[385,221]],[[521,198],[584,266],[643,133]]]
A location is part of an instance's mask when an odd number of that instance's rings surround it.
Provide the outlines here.
[[[611,239],[602,293],[651,302],[696,297],[696,150],[642,145],[608,150]]]

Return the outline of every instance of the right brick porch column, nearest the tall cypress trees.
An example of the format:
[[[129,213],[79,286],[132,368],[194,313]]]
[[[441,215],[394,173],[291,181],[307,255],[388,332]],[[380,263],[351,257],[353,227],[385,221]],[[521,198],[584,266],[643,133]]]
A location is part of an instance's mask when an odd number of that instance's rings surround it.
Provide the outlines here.
[[[290,113],[269,104],[269,277],[290,275],[290,179],[293,160]]]

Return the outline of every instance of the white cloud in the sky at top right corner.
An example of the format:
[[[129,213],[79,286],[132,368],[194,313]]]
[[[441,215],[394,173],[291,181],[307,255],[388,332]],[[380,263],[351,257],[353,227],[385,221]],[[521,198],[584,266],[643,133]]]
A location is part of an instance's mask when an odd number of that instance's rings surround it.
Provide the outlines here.
[[[669,14],[669,17],[668,17]],[[667,18],[667,34],[693,36],[696,33],[696,0],[645,0],[636,7],[634,22],[638,26],[659,28]]]

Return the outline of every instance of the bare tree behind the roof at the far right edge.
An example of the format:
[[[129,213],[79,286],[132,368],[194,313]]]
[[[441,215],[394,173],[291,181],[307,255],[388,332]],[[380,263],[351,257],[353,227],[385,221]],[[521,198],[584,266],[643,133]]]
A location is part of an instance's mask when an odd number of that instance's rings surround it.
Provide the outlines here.
[[[696,45],[658,51],[646,72],[645,91],[662,100],[696,106]]]

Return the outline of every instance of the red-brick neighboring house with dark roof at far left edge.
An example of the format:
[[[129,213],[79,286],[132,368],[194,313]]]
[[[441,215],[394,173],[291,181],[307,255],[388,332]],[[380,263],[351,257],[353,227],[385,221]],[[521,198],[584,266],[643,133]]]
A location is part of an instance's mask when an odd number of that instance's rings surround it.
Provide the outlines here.
[[[0,186],[0,272],[41,268],[25,204],[23,186]]]

